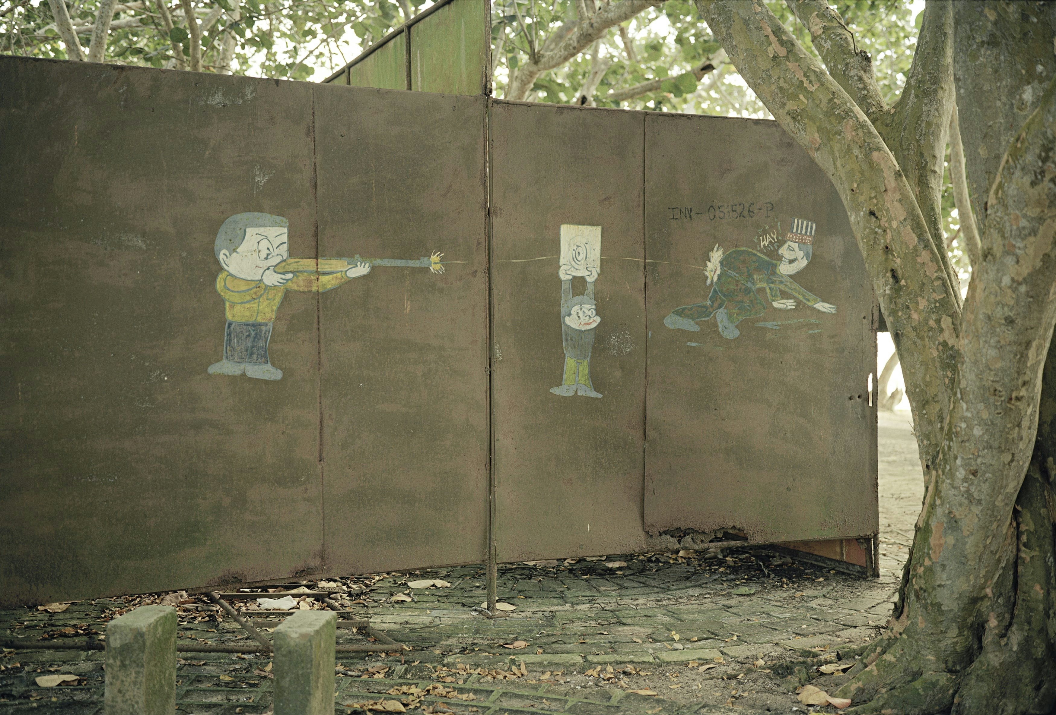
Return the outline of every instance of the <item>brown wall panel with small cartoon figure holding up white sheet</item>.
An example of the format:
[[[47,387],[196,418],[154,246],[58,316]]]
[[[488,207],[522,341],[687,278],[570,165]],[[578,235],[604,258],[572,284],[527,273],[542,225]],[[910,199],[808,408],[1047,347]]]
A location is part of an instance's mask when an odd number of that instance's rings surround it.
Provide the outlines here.
[[[644,115],[494,102],[496,529],[501,561],[641,548]],[[562,397],[563,224],[601,227],[590,379]],[[572,292],[583,294],[577,277]],[[573,386],[574,387],[574,386]]]

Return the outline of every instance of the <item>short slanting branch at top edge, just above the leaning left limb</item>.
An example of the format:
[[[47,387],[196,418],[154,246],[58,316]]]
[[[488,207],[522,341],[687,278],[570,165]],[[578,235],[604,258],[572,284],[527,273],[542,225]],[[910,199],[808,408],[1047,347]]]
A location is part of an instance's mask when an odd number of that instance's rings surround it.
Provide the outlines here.
[[[827,0],[786,0],[809,31],[826,69],[874,122],[887,111],[872,72],[872,58],[859,50],[854,36]]]

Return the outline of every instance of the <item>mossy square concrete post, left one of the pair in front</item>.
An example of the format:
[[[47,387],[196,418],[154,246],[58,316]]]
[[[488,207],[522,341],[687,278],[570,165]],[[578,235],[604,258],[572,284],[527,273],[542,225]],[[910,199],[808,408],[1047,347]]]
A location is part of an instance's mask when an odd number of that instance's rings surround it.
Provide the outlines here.
[[[144,605],[107,623],[107,715],[176,712],[176,610]]]

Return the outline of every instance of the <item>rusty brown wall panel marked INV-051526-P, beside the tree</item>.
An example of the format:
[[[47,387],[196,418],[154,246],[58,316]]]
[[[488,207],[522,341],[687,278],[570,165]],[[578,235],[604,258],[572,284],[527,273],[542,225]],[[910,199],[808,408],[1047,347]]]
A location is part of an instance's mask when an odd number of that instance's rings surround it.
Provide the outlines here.
[[[775,122],[649,115],[645,127],[646,528],[874,534],[872,291],[835,190]],[[793,218],[816,232],[809,264],[788,277],[835,313],[784,288],[795,307],[775,308],[763,288]],[[716,246],[727,257],[708,285]],[[761,260],[734,265],[743,250]],[[697,331],[668,326],[694,304]],[[714,308],[748,315],[739,335],[723,336]]]

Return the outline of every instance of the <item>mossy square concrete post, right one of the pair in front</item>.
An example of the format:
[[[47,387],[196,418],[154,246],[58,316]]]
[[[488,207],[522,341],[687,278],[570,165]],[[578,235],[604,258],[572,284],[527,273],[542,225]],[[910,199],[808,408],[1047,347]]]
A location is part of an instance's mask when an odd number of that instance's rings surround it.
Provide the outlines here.
[[[334,714],[337,614],[303,611],[275,630],[275,715]]]

